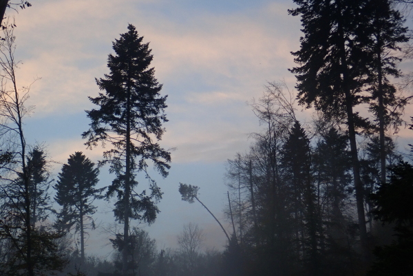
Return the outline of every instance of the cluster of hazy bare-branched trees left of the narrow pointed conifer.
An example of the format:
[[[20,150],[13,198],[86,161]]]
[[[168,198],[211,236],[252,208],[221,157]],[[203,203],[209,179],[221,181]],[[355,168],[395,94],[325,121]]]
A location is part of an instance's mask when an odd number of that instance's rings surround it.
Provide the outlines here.
[[[282,148],[296,121],[295,96],[284,83],[268,83],[266,88],[262,98],[251,103],[264,130],[251,134],[255,142],[247,154],[229,160],[229,189],[238,198],[234,213],[240,214],[241,249],[248,254],[242,262],[250,262],[244,263],[245,270],[255,264],[253,269],[260,275],[273,275],[275,271],[288,275],[297,271],[299,253],[293,246],[291,176],[282,166]]]

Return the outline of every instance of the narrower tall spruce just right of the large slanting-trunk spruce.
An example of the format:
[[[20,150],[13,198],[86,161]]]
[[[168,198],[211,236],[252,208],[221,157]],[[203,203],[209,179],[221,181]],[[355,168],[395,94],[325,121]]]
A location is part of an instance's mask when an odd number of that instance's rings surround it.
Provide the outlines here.
[[[407,42],[407,28],[400,12],[394,10],[390,0],[370,0],[361,12],[359,34],[363,52],[368,56],[368,90],[370,112],[374,114],[379,130],[380,182],[385,183],[386,137],[391,125],[397,129],[401,124],[402,109],[407,100],[396,95],[396,87],[388,77],[399,77],[396,56],[401,51],[400,43]]]

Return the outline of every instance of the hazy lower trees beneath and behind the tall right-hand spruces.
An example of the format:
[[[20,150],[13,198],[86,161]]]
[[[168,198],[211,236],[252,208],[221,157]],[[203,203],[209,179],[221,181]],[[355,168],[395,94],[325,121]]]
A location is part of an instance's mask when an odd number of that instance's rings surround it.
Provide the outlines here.
[[[301,124],[283,87],[271,83],[252,103],[265,129],[252,134],[249,151],[228,162],[232,208],[227,215],[235,224],[237,244],[231,250],[240,255],[244,275],[257,270],[259,275],[360,275],[367,261],[348,134],[322,116]],[[393,235],[370,213],[376,206],[370,194],[380,184],[377,140],[374,134],[364,136],[359,149],[371,259],[372,248]],[[402,159],[394,142],[386,140],[389,178]]]

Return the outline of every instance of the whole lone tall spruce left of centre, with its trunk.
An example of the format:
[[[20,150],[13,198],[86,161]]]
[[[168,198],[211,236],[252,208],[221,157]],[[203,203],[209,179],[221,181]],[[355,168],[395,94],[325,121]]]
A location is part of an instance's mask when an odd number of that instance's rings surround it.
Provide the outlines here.
[[[167,122],[164,114],[167,96],[160,96],[162,85],[154,77],[153,59],[149,43],[142,43],[143,36],[133,25],[120,34],[113,43],[115,55],[109,54],[107,67],[110,73],[96,79],[100,90],[96,98],[89,99],[98,109],[87,111],[92,120],[90,129],[83,133],[85,145],[92,148],[99,142],[112,147],[103,153],[100,164],[109,163],[116,178],[109,186],[107,197],[116,195],[114,215],[123,223],[123,275],[127,274],[129,246],[129,220],[154,222],[159,213],[156,203],[162,193],[147,173],[148,161],[153,163],[162,177],[168,175],[171,162],[169,151],[162,149],[162,138]],[[136,173],[142,172],[149,180],[149,190],[137,192]]]

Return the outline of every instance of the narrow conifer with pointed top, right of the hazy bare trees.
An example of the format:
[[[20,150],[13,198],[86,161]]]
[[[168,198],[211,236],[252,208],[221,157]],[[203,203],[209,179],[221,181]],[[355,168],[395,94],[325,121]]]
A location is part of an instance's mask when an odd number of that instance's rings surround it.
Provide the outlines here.
[[[304,255],[308,275],[319,275],[319,210],[311,172],[310,140],[298,121],[283,147],[282,166],[289,176],[291,211],[295,220],[297,259]]]

